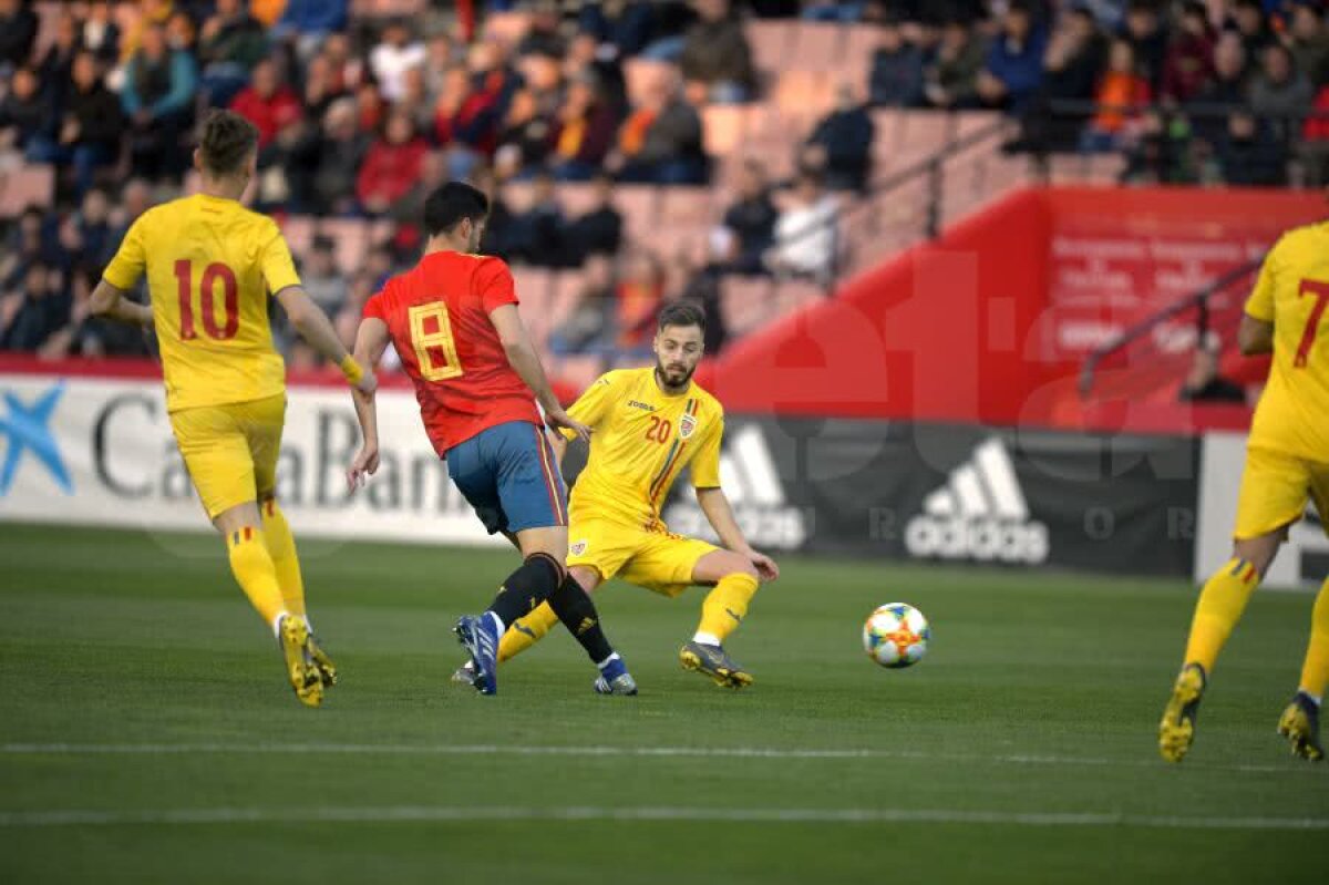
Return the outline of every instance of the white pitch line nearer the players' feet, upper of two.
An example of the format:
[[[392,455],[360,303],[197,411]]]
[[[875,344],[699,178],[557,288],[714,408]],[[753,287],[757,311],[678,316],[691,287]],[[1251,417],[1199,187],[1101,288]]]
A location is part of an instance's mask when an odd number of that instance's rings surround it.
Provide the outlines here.
[[[819,749],[777,747],[522,747],[505,744],[0,744],[4,756],[159,756],[191,753],[253,755],[351,755],[351,756],[579,756],[579,757],[699,757],[699,759],[913,759],[1005,765],[1061,765],[1092,768],[1163,768],[1154,759],[1104,759],[1095,756],[1043,756],[1027,753],[932,753],[912,749]],[[1302,773],[1290,765],[1187,763],[1188,769]]]

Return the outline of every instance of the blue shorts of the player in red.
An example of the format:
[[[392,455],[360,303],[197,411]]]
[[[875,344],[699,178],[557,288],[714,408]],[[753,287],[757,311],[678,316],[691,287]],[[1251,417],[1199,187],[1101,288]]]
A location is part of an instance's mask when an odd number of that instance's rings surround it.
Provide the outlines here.
[[[448,474],[489,534],[567,525],[567,486],[544,428],[498,424],[445,457]]]

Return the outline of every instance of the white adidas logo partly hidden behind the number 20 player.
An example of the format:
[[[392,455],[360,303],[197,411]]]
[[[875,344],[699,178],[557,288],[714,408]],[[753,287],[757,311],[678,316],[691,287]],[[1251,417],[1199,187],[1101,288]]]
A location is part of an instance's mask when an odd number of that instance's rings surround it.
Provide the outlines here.
[[[720,486],[734,517],[755,547],[796,550],[808,537],[805,514],[788,505],[766,435],[756,424],[730,433],[720,453]],[[664,512],[670,530],[715,541],[715,532],[691,492]]]

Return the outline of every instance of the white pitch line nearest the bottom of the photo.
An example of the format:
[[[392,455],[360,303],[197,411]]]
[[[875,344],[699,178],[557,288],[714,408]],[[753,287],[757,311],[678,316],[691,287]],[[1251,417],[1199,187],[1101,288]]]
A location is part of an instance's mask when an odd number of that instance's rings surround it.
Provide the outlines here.
[[[465,821],[691,821],[751,824],[991,824],[1006,827],[1130,827],[1208,831],[1329,831],[1329,817],[1166,817],[1102,812],[1001,812],[882,808],[674,808],[563,807],[472,808],[388,805],[318,808],[185,808],[171,811],[0,812],[0,828],[207,825],[207,824],[413,824]]]

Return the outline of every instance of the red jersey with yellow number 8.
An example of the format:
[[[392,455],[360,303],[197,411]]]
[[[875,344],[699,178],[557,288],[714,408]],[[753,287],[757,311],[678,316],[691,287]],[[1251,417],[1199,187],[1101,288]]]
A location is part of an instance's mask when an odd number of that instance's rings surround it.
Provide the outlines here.
[[[489,319],[504,304],[517,304],[517,292],[501,259],[444,251],[389,279],[364,306],[365,318],[387,323],[440,456],[498,424],[541,424]]]

